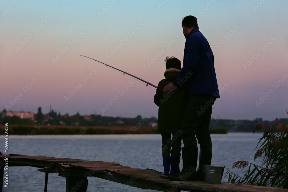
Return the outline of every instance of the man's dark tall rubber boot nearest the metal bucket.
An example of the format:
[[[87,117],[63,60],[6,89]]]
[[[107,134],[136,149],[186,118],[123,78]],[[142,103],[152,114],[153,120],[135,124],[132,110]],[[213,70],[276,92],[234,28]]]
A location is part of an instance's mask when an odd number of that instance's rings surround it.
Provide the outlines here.
[[[199,152],[199,166],[197,171],[192,174],[193,180],[204,181],[204,165],[211,165],[212,151],[209,148],[200,148]]]

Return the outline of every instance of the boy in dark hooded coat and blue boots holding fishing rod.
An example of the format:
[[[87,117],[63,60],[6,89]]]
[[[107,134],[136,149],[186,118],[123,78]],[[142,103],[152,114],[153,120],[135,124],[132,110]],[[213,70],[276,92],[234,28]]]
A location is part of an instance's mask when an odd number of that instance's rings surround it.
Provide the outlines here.
[[[179,162],[182,140],[180,126],[187,104],[188,90],[187,86],[183,85],[180,88],[175,87],[175,89],[169,93],[163,92],[163,88],[168,84],[167,81],[173,81],[181,70],[181,61],[179,59],[175,57],[169,58],[167,56],[165,62],[165,79],[162,79],[158,83],[154,103],[159,107],[158,132],[161,133],[162,136],[164,172],[162,172],[160,176],[169,178],[169,175],[176,175],[180,172]]]

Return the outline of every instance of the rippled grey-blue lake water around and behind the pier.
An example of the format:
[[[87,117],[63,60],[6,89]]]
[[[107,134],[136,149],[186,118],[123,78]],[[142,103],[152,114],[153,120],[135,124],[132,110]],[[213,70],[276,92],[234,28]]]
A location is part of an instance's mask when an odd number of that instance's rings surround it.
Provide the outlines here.
[[[254,162],[255,147],[257,139],[262,135],[253,133],[232,133],[212,134],[213,157],[212,165],[226,166],[231,170],[232,164],[238,160],[248,160]],[[72,146],[61,155],[62,158],[84,159],[90,161],[116,162],[124,166],[135,168],[149,168],[163,171],[161,156],[161,135],[159,134],[140,134],[132,135],[43,135],[32,136],[24,145],[19,144],[25,136],[9,137],[9,153],[23,155],[44,155],[55,157],[63,145],[69,142]],[[121,139],[128,138],[121,147],[115,149],[121,143]],[[254,142],[253,142],[254,141]],[[0,151],[4,152],[4,137],[0,137]],[[3,150],[2,150],[3,149]],[[64,151],[64,150],[63,150]],[[160,156],[158,156],[160,154]],[[152,160],[151,160],[152,159]],[[182,159],[180,160],[180,169]],[[261,160],[254,162],[261,164]],[[226,169],[224,170],[222,181]],[[9,167],[9,188],[3,187],[3,191],[43,191],[45,183],[45,173],[37,171],[34,167]],[[233,169],[235,173],[243,170]],[[58,174],[49,174],[48,191],[65,191],[65,177]],[[138,189],[128,185],[122,185],[111,181],[95,177],[88,177],[87,191],[153,191]]]

